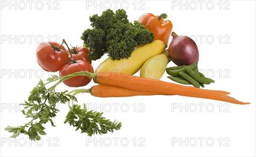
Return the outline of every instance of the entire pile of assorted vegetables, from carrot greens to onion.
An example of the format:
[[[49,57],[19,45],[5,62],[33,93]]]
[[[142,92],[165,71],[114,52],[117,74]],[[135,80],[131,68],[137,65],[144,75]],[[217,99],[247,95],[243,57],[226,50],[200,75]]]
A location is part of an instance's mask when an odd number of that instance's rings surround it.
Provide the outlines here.
[[[67,103],[70,109],[64,123],[69,123],[76,131],[80,130],[88,136],[107,134],[121,128],[121,122],[106,119],[102,112],[87,110],[85,104],[83,107],[77,105],[75,96],[79,93],[102,98],[179,95],[250,104],[228,96],[230,93],[226,91],[200,88],[215,81],[198,71],[199,52],[195,42],[172,32],[171,21],[163,20],[166,17],[166,14],[144,14],[131,23],[125,10],[119,9],[114,13],[108,9],[101,16],[90,16],[92,29],[82,33],[83,47],[71,46],[70,49],[64,39],[61,44],[39,44],[36,49],[38,65],[47,72],[59,71],[59,76],[53,75],[47,79],[47,83],[40,80],[30,92],[28,100],[20,104],[24,107],[22,113],[32,119],[17,127],[7,126],[5,130],[12,132],[13,138],[25,134],[30,140],[40,140],[40,136],[46,134],[43,125],[50,122],[55,126],[53,118],[59,111],[56,107],[58,103]],[[172,42],[165,50],[171,32]],[[109,58],[93,72],[92,60],[101,58],[105,53]],[[166,68],[171,60],[177,66]],[[140,77],[132,76],[139,70]],[[165,71],[172,81],[194,87],[160,81]],[[70,92],[55,91],[62,82],[69,87],[81,87],[89,84],[91,79],[99,85]],[[47,88],[46,85],[52,82],[56,83]]]

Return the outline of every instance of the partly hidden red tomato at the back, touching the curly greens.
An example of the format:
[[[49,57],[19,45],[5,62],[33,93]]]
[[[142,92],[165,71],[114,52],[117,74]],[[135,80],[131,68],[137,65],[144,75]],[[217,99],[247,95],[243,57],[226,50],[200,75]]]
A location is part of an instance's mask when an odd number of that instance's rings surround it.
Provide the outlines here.
[[[88,57],[88,53],[89,50],[85,47],[77,47],[76,50],[78,51],[78,53],[74,54],[72,53],[72,57],[78,61],[78,60],[83,60],[83,61],[87,61],[88,63],[92,64],[92,60],[90,57]],[[71,50],[71,52],[73,52],[73,50]],[[69,58],[70,57],[70,53],[68,53]]]

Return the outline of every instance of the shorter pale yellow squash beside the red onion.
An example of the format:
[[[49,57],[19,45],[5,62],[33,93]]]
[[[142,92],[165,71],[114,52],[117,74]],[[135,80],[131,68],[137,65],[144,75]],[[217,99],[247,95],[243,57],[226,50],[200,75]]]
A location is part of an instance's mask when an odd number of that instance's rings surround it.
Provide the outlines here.
[[[140,77],[159,80],[163,76],[169,61],[171,61],[171,58],[169,57],[168,49],[166,49],[160,55],[149,58],[143,64],[140,70]]]

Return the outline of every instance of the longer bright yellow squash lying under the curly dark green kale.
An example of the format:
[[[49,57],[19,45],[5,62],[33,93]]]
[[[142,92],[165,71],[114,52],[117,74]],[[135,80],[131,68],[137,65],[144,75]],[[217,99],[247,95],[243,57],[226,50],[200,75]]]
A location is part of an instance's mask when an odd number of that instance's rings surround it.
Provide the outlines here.
[[[98,73],[101,71],[111,71],[116,73],[134,75],[140,70],[145,61],[163,52],[164,48],[165,44],[163,43],[163,41],[153,41],[150,44],[135,48],[134,51],[131,53],[131,57],[129,57],[128,59],[120,59],[118,61],[107,58],[105,61],[99,64],[99,67],[97,67],[95,72]]]

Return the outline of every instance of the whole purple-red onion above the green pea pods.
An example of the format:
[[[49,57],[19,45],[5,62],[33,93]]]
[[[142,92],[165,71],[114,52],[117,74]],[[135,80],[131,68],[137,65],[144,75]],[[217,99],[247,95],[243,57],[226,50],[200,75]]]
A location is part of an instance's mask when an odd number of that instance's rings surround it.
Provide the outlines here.
[[[177,66],[191,65],[199,61],[199,51],[195,41],[187,36],[178,36],[175,32],[172,32],[172,37],[168,52]]]

